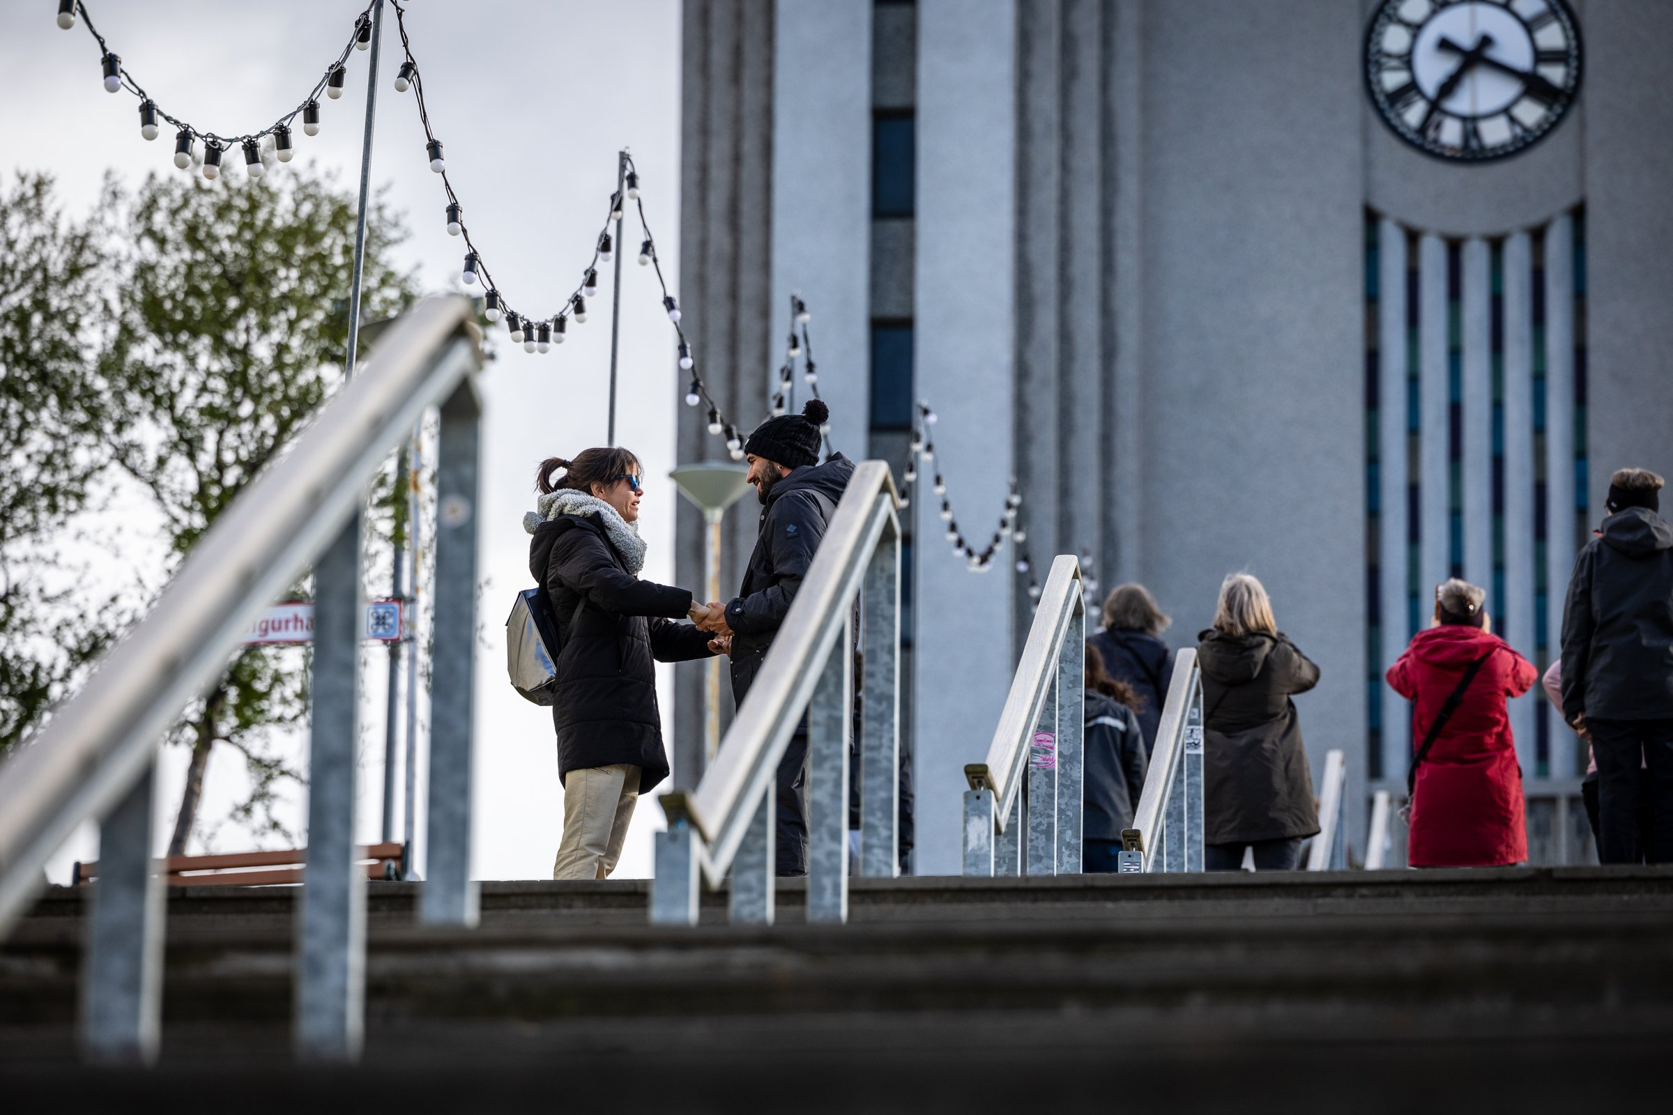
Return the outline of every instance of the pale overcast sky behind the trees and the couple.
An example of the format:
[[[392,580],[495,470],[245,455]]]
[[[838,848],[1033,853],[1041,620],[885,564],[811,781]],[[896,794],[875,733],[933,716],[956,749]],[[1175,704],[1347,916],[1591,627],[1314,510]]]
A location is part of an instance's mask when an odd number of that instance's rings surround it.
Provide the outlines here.
[[[94,0],[92,17],[122,64],[169,114],[217,134],[259,130],[289,112],[348,40],[363,0]],[[82,212],[105,171],[130,186],[149,171],[174,171],[167,130],[139,134],[137,100],[100,85],[97,43],[82,23],[54,22],[49,0],[0,0],[0,174],[49,171],[60,197]],[[557,309],[592,251],[602,207],[616,186],[616,150],[632,149],[659,256],[678,294],[679,272],[679,3],[678,0],[499,0],[494,5],[413,0],[413,55],[425,75],[432,127],[447,147],[448,177],[465,206],[472,237],[500,288],[517,304]],[[442,182],[425,160],[425,137],[410,94],[391,87],[400,64],[393,12],[385,20],[371,176],[400,211],[410,239],[397,257],[418,269],[427,291],[457,286],[463,242],[445,231]],[[318,137],[296,135],[299,160],[358,182],[366,67],[348,62],[348,92],[323,100]],[[294,164],[293,164],[294,165]],[[243,176],[243,160],[228,159]],[[283,169],[278,169],[283,174]],[[629,221],[631,224],[631,221]],[[634,244],[637,246],[637,242]],[[632,256],[629,256],[629,261]],[[609,283],[609,276],[602,276]],[[689,323],[701,328],[699,323]],[[642,456],[649,480],[641,530],[651,542],[644,577],[673,575],[674,408],[684,391],[673,366],[674,338],[649,269],[629,262],[622,288],[619,441]],[[547,455],[565,456],[604,441],[609,313],[570,328],[570,341],[545,356],[512,351],[483,374],[482,577],[487,644],[477,680],[477,874],[549,878],[562,824],[552,722],[505,682],[502,620],[517,588],[532,583],[522,513],[534,507],[532,475]],[[371,717],[363,749],[360,827],[375,839],[381,796],[383,655],[368,670]],[[666,669],[666,667],[664,667]],[[669,685],[663,679],[664,719]],[[303,741],[294,741],[299,751]],[[204,816],[226,812],[241,762],[216,752]],[[159,827],[172,824],[184,754],[166,757]],[[299,816],[293,802],[293,819]],[[651,871],[654,799],[641,802],[619,876]],[[236,851],[223,829],[217,851]],[[97,843],[79,834],[55,859]]]

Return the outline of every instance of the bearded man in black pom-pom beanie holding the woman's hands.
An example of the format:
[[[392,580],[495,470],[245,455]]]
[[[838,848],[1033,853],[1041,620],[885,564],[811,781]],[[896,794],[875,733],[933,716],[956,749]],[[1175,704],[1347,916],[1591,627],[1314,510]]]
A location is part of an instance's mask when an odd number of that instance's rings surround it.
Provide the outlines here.
[[[823,425],[830,410],[820,400],[808,401],[800,415],[768,418],[744,443],[750,460],[750,483],[761,500],[761,527],[755,553],[743,575],[743,588],[728,603],[711,603],[699,624],[719,635],[729,634],[733,699],[741,705],[755,675],[766,660],[790,602],[801,588],[801,578],[813,565],[813,555],[825,538],[836,503],[842,500],[853,461],[831,453],[820,465]],[[808,722],[790,739],[778,764],[778,824],[775,869],[781,876],[808,873]]]

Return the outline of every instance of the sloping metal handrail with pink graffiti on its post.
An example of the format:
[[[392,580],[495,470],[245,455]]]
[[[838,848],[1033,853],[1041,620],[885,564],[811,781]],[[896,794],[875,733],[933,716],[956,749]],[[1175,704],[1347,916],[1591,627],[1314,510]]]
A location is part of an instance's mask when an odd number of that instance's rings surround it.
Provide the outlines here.
[[[965,874],[1081,869],[1084,597],[1081,563],[1059,553],[1041,590],[987,761],[964,769]]]

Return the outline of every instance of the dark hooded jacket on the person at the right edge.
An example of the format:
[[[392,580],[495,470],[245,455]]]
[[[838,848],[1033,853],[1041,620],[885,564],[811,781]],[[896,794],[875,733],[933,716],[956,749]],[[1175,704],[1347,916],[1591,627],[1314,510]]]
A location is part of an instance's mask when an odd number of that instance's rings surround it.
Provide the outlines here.
[[[1563,608],[1563,715],[1673,719],[1673,525],[1645,507],[1603,520]]]

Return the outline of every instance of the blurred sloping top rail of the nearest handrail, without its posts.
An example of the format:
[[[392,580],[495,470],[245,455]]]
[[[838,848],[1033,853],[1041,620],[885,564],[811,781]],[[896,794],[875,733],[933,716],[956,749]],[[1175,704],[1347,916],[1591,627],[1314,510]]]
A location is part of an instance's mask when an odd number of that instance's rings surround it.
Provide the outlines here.
[[[470,303],[418,303],[360,376],[204,533],[152,612],[0,764],[0,936],[70,831],[141,777],[169,722],[214,679],[241,632],[343,527],[425,408],[480,366]]]

